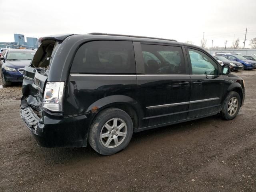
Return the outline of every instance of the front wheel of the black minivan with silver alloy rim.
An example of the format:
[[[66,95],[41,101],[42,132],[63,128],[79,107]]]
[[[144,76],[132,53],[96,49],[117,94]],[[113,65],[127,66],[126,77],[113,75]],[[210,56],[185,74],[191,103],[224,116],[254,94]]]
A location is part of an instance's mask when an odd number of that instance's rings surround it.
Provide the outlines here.
[[[226,120],[234,119],[240,110],[240,106],[241,106],[241,98],[238,92],[234,92],[234,91],[229,92],[226,99],[223,102],[223,106],[221,110],[222,118]]]

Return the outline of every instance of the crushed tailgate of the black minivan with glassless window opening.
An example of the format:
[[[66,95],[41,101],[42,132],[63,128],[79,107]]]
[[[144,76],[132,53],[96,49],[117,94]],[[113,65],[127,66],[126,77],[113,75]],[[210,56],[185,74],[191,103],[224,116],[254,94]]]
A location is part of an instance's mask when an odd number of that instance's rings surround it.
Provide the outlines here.
[[[41,118],[43,94],[48,78],[49,66],[59,45],[60,43],[56,40],[42,40],[42,44],[36,51],[30,66],[26,66],[24,68],[21,113],[23,110],[26,110],[26,113],[23,112],[23,114],[27,114],[31,111],[31,113],[33,113],[32,116],[38,116],[38,118]],[[28,107],[31,110],[28,110]]]

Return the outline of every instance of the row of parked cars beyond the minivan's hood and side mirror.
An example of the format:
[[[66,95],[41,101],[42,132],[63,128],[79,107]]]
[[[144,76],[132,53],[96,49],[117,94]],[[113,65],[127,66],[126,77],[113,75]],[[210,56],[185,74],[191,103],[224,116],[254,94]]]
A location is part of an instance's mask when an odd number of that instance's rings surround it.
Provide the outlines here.
[[[251,70],[256,68],[256,56],[243,55],[241,53],[218,53],[213,54],[216,60],[229,63],[231,70]]]

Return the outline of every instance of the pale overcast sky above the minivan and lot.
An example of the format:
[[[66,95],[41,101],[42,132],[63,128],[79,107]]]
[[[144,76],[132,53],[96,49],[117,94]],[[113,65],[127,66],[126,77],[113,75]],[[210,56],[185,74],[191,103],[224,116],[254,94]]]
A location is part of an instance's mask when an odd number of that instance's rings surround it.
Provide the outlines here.
[[[191,41],[206,47],[246,48],[256,37],[256,0],[0,0],[0,42],[90,32]],[[203,33],[204,32],[204,33]]]

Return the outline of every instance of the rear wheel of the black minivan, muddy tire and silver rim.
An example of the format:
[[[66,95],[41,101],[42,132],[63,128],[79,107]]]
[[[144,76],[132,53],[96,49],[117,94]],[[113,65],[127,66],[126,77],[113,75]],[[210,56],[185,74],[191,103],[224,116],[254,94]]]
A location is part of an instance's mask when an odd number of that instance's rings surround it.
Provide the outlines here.
[[[119,126],[122,128],[118,130]],[[132,133],[133,123],[130,116],[118,108],[108,108],[100,112],[92,122],[88,141],[99,154],[112,155],[126,148]]]

